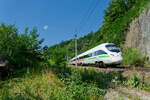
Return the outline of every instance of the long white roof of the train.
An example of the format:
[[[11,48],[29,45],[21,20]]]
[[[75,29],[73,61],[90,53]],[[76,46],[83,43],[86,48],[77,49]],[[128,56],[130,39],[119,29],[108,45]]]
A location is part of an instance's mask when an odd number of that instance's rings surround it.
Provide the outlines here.
[[[86,52],[78,55],[77,57],[72,58],[71,60],[74,60],[76,58],[79,58],[79,57],[82,57],[84,55],[87,55],[87,54],[90,54],[92,52],[95,52],[95,51],[99,50],[99,48],[104,47],[105,45],[108,45],[108,44],[113,44],[113,43],[103,43],[103,44],[100,44],[100,45],[98,45],[98,46],[96,46],[96,47],[94,47],[94,48],[92,48],[90,50],[87,50]]]

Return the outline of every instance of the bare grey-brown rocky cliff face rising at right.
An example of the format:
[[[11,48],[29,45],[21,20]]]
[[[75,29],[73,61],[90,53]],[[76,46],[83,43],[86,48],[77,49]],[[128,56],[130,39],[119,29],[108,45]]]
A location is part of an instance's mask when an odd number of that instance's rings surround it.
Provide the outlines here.
[[[138,48],[142,56],[150,58],[150,2],[139,18],[130,23],[125,46]]]

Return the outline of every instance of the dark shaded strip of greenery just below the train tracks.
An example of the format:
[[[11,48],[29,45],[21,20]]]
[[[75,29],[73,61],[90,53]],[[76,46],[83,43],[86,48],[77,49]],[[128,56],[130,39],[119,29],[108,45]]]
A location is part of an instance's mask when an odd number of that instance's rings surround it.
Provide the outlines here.
[[[126,78],[123,71],[98,72],[94,69],[72,68],[66,66],[51,67],[52,71],[61,78],[70,78],[73,81],[82,81],[96,84],[100,89],[114,88],[122,84]]]

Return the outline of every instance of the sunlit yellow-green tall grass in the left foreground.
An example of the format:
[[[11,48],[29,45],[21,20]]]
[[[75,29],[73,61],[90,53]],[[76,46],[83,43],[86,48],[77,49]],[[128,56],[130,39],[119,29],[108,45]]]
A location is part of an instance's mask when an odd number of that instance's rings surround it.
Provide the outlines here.
[[[67,73],[67,70],[64,71]],[[9,79],[1,86],[1,100],[98,100],[105,93],[96,85],[80,79],[58,78],[50,69]]]

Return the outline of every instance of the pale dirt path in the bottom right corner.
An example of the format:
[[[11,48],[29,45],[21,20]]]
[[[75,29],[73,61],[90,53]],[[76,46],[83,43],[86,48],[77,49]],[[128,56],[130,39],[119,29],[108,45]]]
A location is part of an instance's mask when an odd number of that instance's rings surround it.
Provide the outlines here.
[[[120,87],[107,92],[104,96],[104,100],[150,100],[150,93]]]

